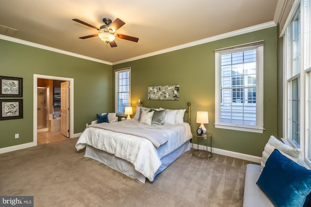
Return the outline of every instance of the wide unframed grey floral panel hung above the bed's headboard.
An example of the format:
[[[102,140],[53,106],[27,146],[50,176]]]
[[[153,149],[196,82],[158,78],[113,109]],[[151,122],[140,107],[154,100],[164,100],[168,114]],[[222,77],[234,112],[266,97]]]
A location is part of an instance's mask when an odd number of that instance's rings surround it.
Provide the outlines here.
[[[160,85],[148,87],[149,100],[179,100],[179,85]]]

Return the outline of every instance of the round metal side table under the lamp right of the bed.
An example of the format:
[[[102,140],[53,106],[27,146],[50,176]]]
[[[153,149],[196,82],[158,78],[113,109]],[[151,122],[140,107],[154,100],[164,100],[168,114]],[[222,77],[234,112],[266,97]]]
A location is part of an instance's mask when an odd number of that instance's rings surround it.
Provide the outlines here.
[[[205,134],[197,134],[196,132],[192,132],[192,149],[193,149],[193,141],[194,138],[196,137],[197,143],[199,139],[206,140],[206,150],[204,149],[199,149],[199,144],[197,144],[197,149],[192,150],[192,155],[194,155],[197,158],[211,158],[212,155],[212,133],[206,132]],[[207,143],[208,139],[210,139],[210,151],[207,149]]]

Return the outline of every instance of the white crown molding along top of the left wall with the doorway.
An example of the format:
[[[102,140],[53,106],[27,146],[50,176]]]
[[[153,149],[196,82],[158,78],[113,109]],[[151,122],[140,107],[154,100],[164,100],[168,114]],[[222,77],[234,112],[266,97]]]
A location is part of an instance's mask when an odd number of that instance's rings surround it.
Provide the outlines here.
[[[96,59],[96,58],[87,57],[85,55],[79,55],[79,54],[76,54],[76,53],[73,53],[73,52],[68,52],[68,51],[65,51],[65,50],[62,50],[62,49],[57,49],[57,48],[52,48],[52,47],[48,47],[48,46],[45,46],[45,45],[36,44],[36,43],[33,43],[33,42],[17,39],[17,38],[14,38],[14,37],[9,37],[9,36],[3,35],[3,34],[0,34],[0,39],[7,40],[7,41],[10,41],[10,42],[19,43],[19,44],[23,44],[23,45],[27,45],[27,46],[31,46],[31,47],[35,47],[35,48],[46,49],[46,50],[50,50],[50,51],[53,51],[53,52],[57,52],[57,53],[61,53],[61,54],[65,54],[65,55],[69,55],[69,56],[73,56],[73,57],[77,57],[77,58],[81,58],[81,59],[86,59],[86,60],[89,60],[89,61],[94,61],[94,62],[98,62],[98,63],[112,65],[112,63],[107,62],[107,61],[103,61],[103,60],[99,60],[99,59]]]

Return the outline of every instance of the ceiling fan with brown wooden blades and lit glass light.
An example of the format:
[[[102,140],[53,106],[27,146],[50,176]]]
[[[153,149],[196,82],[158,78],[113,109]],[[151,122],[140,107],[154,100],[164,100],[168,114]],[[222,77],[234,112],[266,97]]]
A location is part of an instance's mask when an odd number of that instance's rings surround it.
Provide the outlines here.
[[[98,34],[91,34],[91,35],[79,37],[80,39],[86,39],[86,38],[90,38],[90,37],[99,36],[104,42],[106,42],[107,44],[109,43],[109,45],[112,48],[117,47],[117,44],[115,42],[116,37],[118,37],[120,39],[124,39],[124,40],[138,42],[137,37],[132,37],[132,36],[128,36],[125,34],[116,33],[116,31],[125,24],[125,22],[123,22],[119,18],[117,18],[114,22],[112,22],[111,19],[109,19],[109,18],[103,18],[104,25],[100,26],[100,28],[94,27],[93,25],[90,25],[90,24],[88,24],[84,21],[81,21],[79,19],[72,19],[72,20],[76,21],[80,24],[83,24],[87,27],[93,28],[93,29],[100,32]]]

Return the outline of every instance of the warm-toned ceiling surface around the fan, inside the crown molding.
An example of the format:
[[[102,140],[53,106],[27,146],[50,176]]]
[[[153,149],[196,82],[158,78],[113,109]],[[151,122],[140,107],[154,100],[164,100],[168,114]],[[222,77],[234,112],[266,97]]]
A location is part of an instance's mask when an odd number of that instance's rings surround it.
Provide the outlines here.
[[[198,41],[274,20],[277,0],[1,0],[0,34],[109,63]],[[95,27],[102,19],[120,18],[117,32],[138,43],[116,38],[111,48]]]

